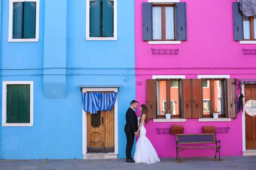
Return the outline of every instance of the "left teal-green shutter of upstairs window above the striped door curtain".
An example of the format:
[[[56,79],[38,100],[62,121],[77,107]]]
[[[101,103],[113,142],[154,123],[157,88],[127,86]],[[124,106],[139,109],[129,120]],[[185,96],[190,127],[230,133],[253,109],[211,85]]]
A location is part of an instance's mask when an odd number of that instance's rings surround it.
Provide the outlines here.
[[[101,28],[101,1],[90,1],[90,37],[100,37]]]

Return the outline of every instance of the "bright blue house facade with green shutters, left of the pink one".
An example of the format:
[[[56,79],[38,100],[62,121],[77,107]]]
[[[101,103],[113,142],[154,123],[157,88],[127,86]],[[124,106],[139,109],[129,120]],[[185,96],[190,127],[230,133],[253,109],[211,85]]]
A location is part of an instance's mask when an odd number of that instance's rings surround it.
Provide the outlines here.
[[[0,0],[0,159],[125,158],[134,0]],[[118,92],[111,111],[82,92]],[[98,116],[96,116],[98,115]]]

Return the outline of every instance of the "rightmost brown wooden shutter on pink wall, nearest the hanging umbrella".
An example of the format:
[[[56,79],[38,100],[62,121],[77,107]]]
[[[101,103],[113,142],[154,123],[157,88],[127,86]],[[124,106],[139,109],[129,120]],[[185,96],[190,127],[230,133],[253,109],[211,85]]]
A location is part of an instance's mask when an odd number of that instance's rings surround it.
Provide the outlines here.
[[[226,79],[227,87],[227,118],[236,118],[236,79]]]

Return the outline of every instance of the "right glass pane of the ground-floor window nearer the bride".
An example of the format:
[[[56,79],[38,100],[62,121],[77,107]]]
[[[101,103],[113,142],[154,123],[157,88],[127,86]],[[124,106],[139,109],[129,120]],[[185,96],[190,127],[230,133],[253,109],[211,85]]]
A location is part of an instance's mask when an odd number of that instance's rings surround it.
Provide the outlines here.
[[[172,113],[173,115],[179,115],[179,81],[171,81],[170,87],[170,99],[171,99],[171,108],[175,109]],[[172,86],[176,85],[176,86]],[[167,108],[169,109],[169,108]]]

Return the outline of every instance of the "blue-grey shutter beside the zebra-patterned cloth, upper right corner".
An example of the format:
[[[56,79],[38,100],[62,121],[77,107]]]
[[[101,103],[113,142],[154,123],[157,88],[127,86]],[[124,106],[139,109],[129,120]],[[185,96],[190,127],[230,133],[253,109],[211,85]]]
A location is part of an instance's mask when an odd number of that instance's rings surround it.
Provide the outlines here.
[[[243,14],[238,2],[233,2],[234,40],[244,40]]]

